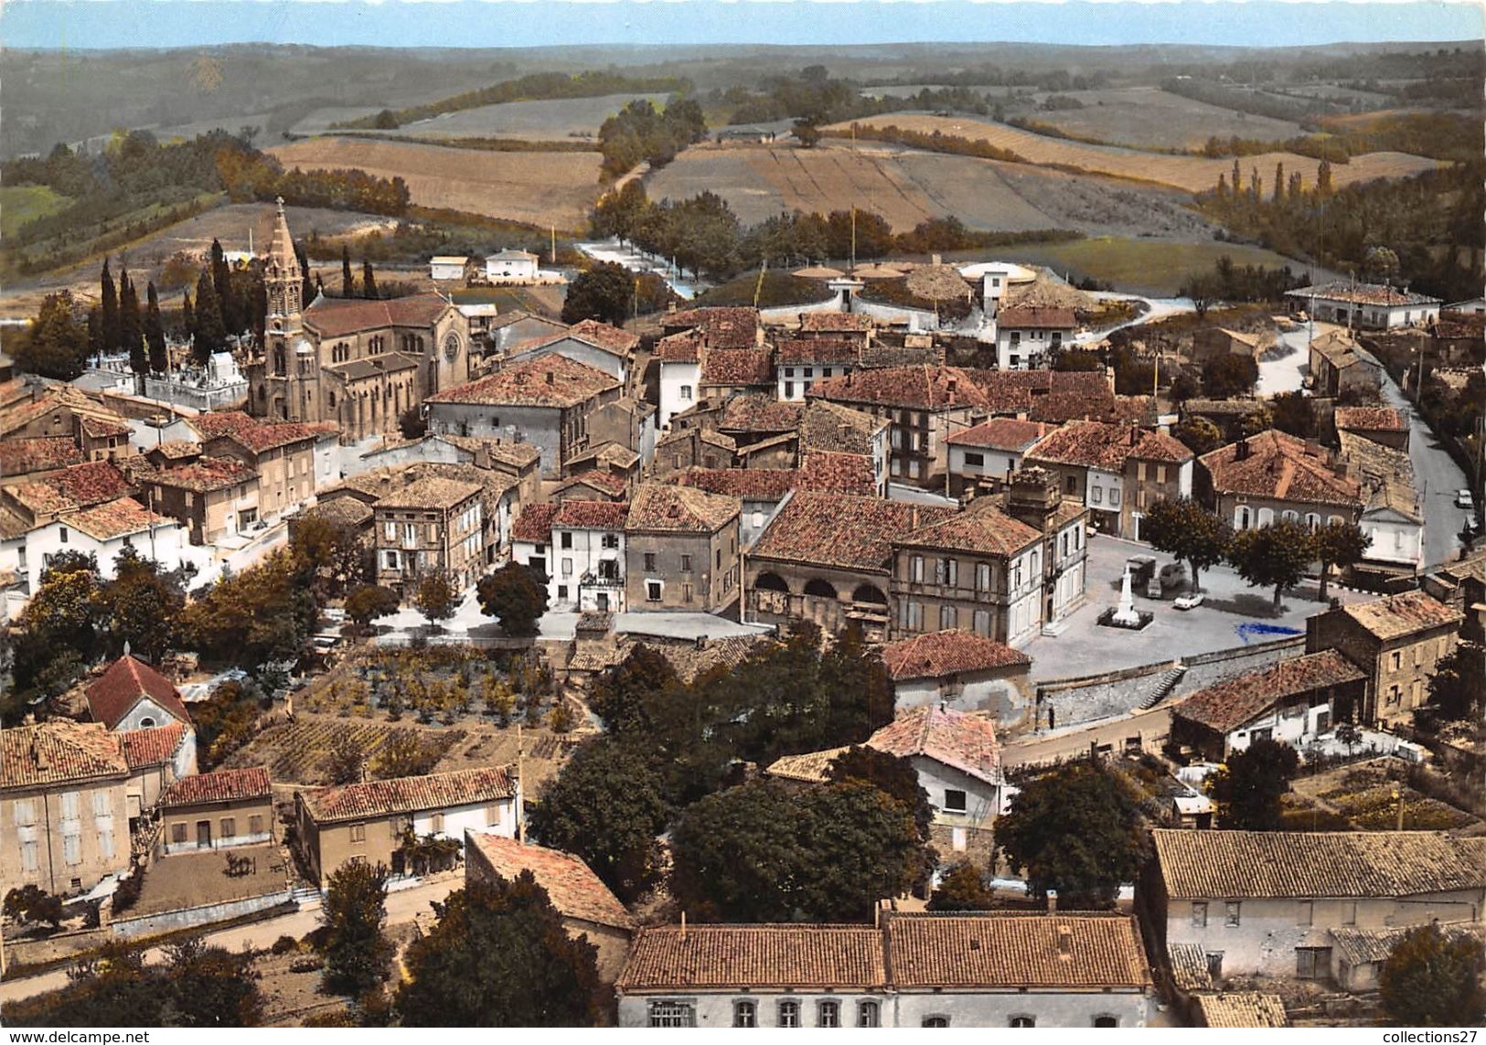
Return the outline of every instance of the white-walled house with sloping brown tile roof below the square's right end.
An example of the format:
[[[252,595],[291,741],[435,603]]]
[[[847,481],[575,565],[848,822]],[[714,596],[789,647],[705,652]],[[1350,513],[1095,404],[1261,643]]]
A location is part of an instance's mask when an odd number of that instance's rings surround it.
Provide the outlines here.
[[[1366,675],[1334,650],[1226,678],[1171,709],[1171,742],[1221,763],[1257,740],[1296,751],[1363,706]]]

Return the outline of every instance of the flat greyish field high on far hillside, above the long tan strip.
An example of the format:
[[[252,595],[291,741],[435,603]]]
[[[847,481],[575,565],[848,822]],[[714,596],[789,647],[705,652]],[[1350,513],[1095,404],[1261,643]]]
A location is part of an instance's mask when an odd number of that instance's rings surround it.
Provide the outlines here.
[[[1083,109],[1034,110],[1027,117],[1064,134],[1134,149],[1201,149],[1213,135],[1284,141],[1305,134],[1299,123],[1250,116],[1159,88],[1070,91],[1062,97],[1082,101]]]

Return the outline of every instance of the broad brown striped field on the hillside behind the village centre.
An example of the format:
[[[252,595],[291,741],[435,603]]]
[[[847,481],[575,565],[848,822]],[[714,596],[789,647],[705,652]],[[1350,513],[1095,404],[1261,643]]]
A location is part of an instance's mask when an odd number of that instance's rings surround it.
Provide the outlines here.
[[[695,146],[645,178],[652,199],[715,192],[744,223],[783,210],[859,207],[903,232],[954,216],[972,229],[1080,229],[1091,235],[1208,238],[1211,226],[1175,190],[973,156],[859,141],[816,149]]]

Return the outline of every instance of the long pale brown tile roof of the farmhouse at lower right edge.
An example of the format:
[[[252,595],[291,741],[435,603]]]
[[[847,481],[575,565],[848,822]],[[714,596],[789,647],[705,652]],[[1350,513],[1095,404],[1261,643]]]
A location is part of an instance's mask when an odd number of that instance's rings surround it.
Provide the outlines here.
[[[1152,831],[1167,895],[1418,896],[1486,886],[1486,838],[1435,831]]]

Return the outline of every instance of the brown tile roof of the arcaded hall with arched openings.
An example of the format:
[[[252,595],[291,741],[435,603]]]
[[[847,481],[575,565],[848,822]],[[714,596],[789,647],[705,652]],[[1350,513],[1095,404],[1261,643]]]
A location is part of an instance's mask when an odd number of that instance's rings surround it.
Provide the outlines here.
[[[780,559],[884,572],[899,540],[917,525],[950,519],[954,508],[846,494],[795,495],[753,543],[750,559]]]

